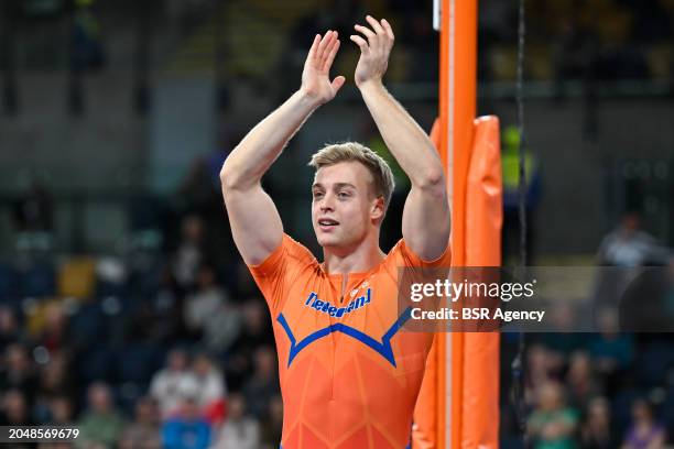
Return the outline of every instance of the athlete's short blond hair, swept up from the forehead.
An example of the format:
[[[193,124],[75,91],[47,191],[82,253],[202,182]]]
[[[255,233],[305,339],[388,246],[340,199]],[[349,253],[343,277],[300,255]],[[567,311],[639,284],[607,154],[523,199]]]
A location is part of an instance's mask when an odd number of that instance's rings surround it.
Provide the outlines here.
[[[372,174],[373,190],[384,199],[384,211],[389,208],[395,188],[393,172],[379,154],[358,142],[341,142],[324,146],[312,156],[308,165],[318,169],[340,162],[360,162]]]

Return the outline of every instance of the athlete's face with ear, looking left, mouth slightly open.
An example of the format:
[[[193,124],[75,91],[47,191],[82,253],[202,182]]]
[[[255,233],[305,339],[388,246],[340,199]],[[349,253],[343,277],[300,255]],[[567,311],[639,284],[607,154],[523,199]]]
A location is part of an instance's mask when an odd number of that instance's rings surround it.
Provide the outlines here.
[[[359,162],[340,162],[316,172],[312,186],[312,222],[318,243],[352,250],[383,216],[383,199],[372,193],[372,175]]]

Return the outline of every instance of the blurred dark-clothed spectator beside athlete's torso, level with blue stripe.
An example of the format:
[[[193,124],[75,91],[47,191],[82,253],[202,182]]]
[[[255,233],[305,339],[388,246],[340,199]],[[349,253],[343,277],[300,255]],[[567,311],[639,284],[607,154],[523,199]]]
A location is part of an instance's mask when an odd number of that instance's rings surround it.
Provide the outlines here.
[[[227,384],[232,391],[240,390],[250,376],[256,350],[274,344],[263,304],[263,299],[253,298],[243,306],[243,329],[231,344],[231,354],[227,360]]]

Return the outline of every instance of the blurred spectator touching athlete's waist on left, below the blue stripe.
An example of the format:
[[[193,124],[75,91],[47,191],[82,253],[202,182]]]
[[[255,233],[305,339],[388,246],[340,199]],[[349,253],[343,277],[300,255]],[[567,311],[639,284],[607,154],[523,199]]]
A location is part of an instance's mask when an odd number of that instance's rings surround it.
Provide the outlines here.
[[[256,350],[256,371],[243,386],[242,393],[250,413],[258,419],[264,418],[268,404],[279,393],[276,363],[276,354],[271,347]]]

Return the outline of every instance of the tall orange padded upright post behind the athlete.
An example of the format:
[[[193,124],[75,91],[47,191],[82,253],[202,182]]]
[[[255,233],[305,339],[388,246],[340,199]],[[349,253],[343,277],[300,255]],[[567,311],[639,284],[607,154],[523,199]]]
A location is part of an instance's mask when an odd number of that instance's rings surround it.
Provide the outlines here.
[[[439,118],[432,138],[446,168],[453,266],[498,266],[501,164],[496,117],[476,120],[477,1],[443,0]],[[436,335],[415,409],[413,447],[498,448],[499,335]]]

